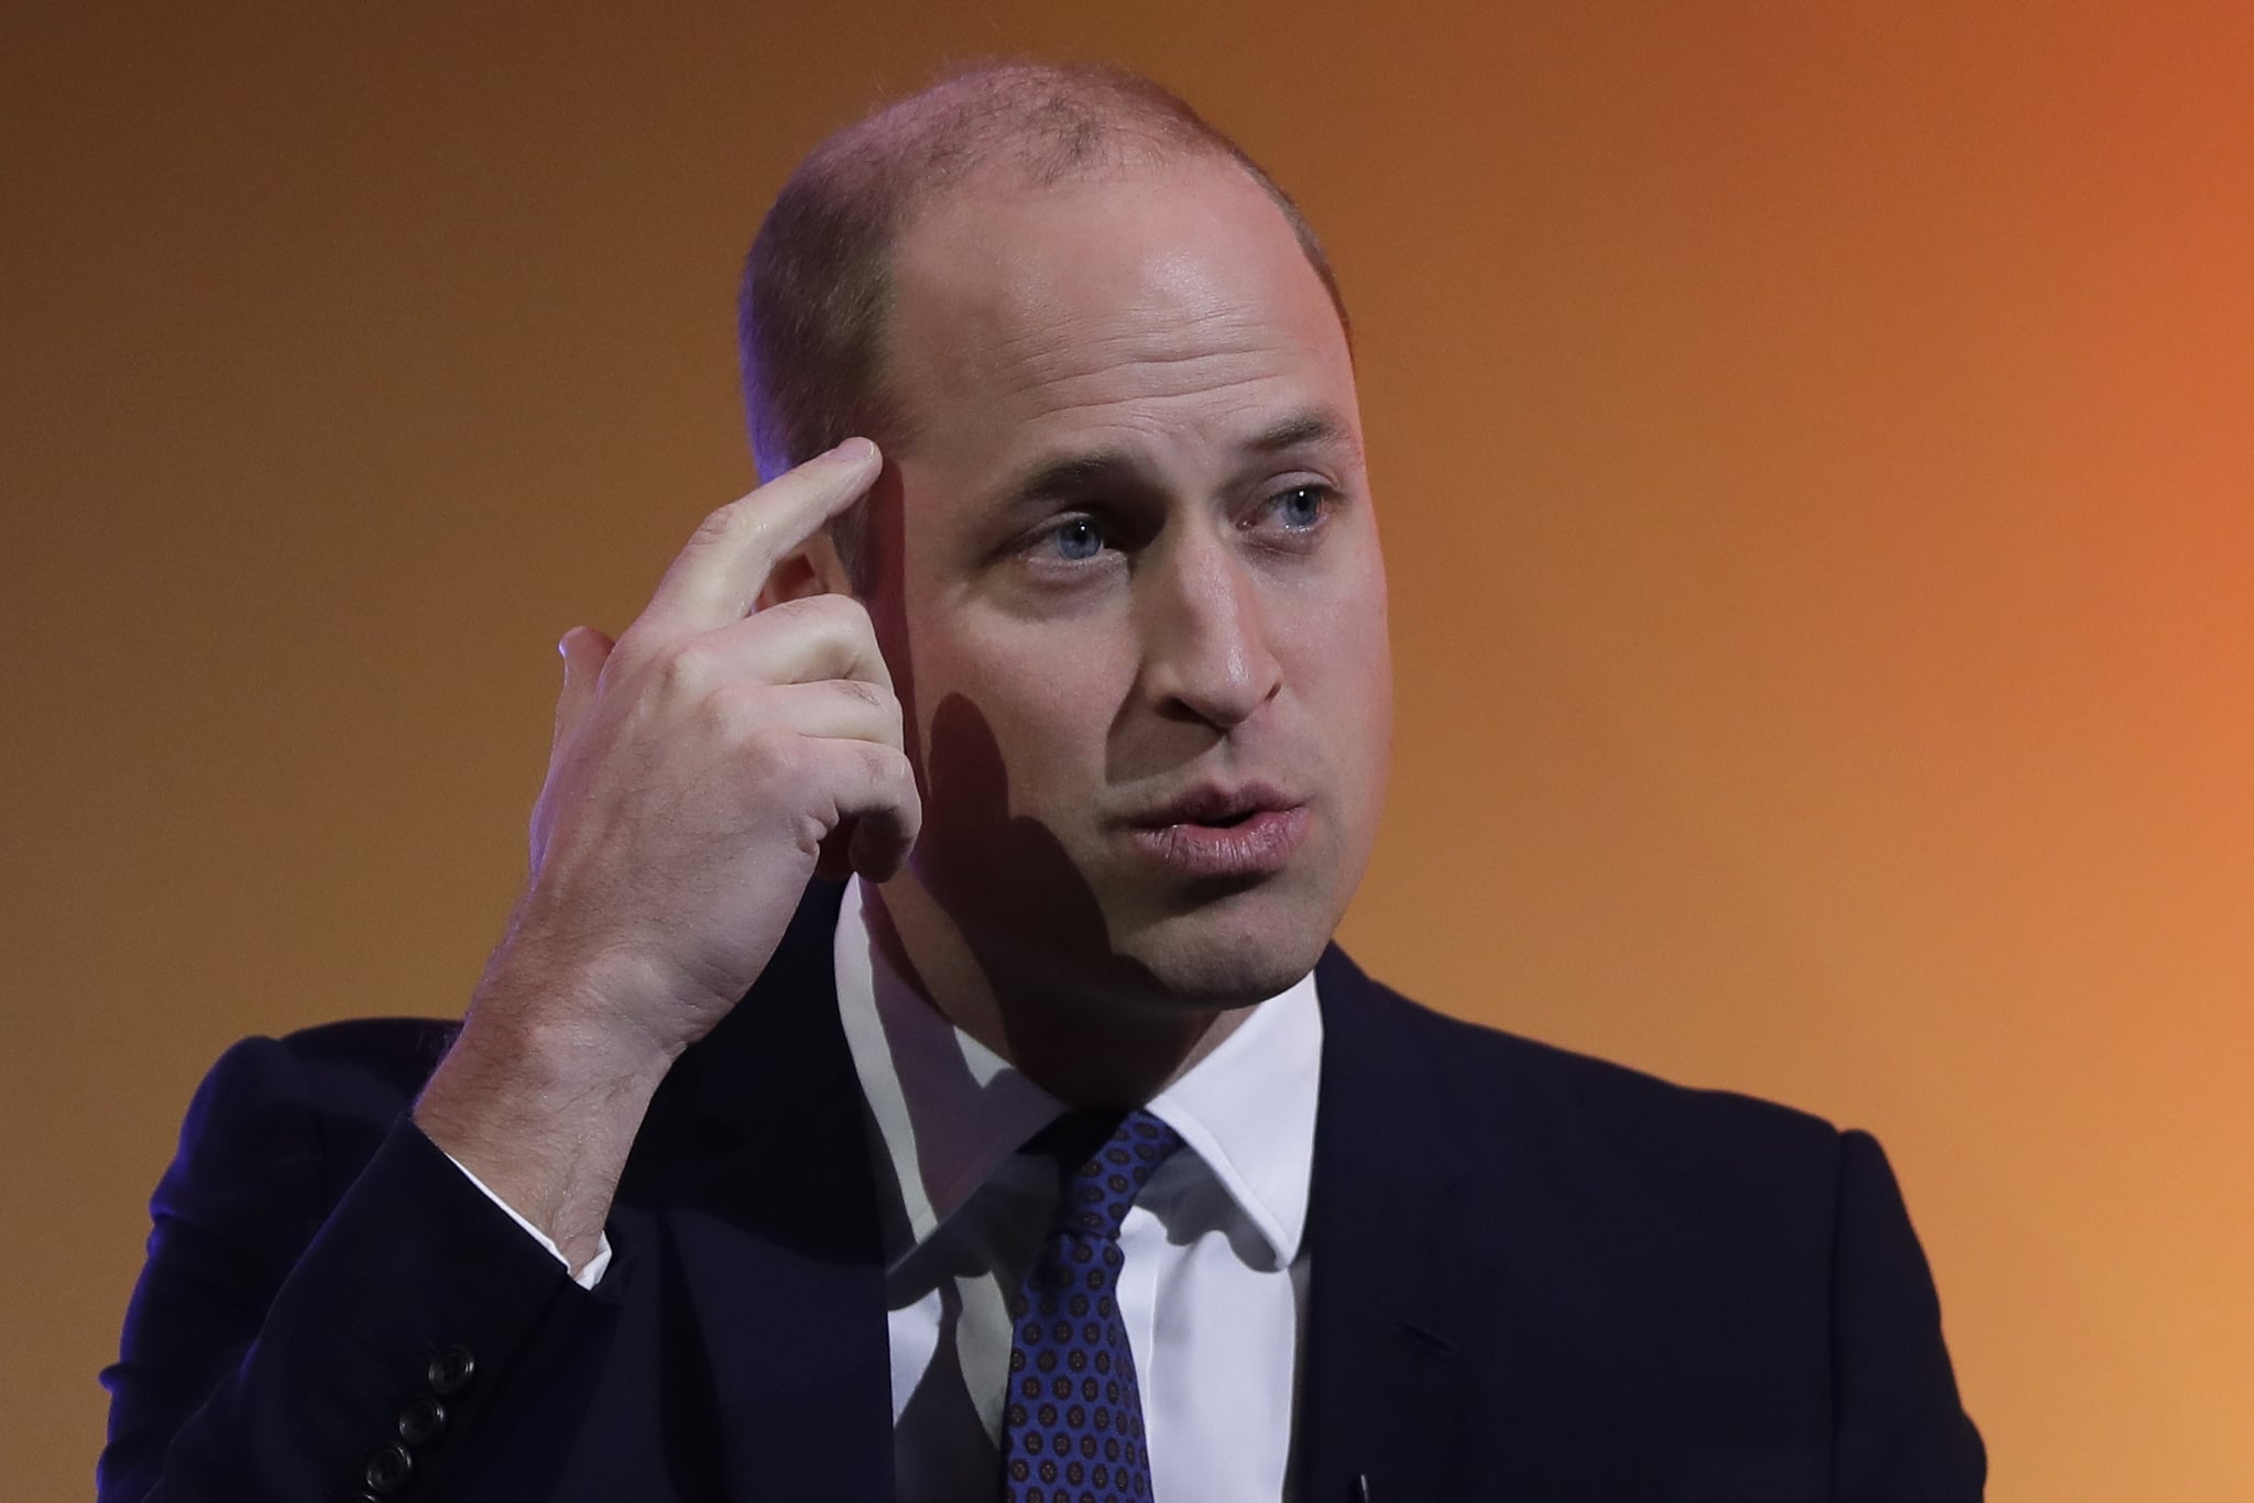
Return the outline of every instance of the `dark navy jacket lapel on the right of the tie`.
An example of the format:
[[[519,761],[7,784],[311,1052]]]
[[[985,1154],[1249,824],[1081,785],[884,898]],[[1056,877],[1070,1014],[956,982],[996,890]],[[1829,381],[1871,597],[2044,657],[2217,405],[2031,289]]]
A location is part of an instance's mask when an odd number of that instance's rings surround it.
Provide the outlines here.
[[[1316,964],[1321,1104],[1307,1208],[1310,1309],[1298,1496],[1400,1503],[1452,1496],[1485,1291],[1456,1239],[1467,1167],[1397,998],[1337,946]]]

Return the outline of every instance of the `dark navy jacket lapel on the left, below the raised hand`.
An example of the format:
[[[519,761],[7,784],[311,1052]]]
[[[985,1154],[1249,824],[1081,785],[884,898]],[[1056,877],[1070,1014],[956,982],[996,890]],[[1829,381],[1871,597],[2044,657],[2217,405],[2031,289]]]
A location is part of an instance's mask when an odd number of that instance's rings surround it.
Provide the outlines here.
[[[681,1059],[654,1154],[672,1165],[660,1255],[712,1368],[730,1498],[893,1496],[877,1194],[832,973],[838,895],[807,890],[751,996]]]

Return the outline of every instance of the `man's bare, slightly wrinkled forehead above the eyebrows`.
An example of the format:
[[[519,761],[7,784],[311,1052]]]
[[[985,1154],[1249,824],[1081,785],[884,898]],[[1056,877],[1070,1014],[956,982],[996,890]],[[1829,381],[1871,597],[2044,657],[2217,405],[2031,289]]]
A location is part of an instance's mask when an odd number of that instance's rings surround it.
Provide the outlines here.
[[[1217,437],[1283,406],[1352,421],[1330,293],[1222,158],[967,185],[911,223],[893,277],[886,367],[917,451],[1001,462],[1093,428]]]

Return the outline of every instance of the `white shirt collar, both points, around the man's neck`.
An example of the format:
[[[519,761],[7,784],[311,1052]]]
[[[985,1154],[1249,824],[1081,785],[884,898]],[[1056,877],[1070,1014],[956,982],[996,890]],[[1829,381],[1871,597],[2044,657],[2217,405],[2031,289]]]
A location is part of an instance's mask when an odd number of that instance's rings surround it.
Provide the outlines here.
[[[904,1235],[886,1248],[897,1266],[1064,1104],[899,976],[868,933],[861,879],[838,904],[836,989],[861,1095],[899,1190]],[[1310,973],[1258,1003],[1150,1102],[1253,1224],[1276,1266],[1298,1257],[1307,1226],[1321,1055]]]

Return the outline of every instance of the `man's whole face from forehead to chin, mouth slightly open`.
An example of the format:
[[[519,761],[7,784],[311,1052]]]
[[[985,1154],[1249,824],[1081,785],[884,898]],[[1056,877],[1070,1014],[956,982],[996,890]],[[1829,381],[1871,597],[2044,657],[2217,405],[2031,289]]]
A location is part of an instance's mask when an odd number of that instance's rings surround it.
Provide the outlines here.
[[[895,288],[872,615],[924,782],[911,877],[1005,989],[1280,991],[1361,879],[1391,741],[1323,284],[1199,158],[958,189]]]

